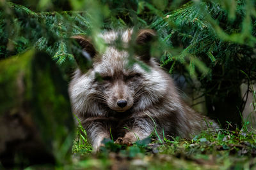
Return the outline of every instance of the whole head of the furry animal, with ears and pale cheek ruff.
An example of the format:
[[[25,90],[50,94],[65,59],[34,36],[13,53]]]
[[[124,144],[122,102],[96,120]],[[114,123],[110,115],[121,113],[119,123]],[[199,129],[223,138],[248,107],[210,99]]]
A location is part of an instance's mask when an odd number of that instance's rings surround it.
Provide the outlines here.
[[[131,42],[132,30],[120,33],[122,41],[127,47]],[[102,38],[108,44],[115,41],[118,32],[107,32]],[[75,36],[83,50],[92,57],[92,68],[83,71],[83,55],[75,55],[79,66],[79,74],[72,81],[70,86],[71,99],[75,110],[83,112],[97,112],[100,106],[108,107],[116,112],[124,112],[131,108],[143,110],[150,104],[158,101],[164,95],[166,81],[159,69],[153,68],[156,63],[150,59],[148,43],[155,36],[150,30],[140,31],[136,36],[133,46],[134,53],[127,50],[117,49],[115,46],[108,46],[102,54],[95,52],[92,43],[84,37]],[[80,58],[79,58],[80,57]],[[150,72],[141,68],[138,63],[129,66],[129,61],[138,60],[147,64]],[[82,59],[81,59],[82,58]],[[102,105],[92,105],[92,100]]]

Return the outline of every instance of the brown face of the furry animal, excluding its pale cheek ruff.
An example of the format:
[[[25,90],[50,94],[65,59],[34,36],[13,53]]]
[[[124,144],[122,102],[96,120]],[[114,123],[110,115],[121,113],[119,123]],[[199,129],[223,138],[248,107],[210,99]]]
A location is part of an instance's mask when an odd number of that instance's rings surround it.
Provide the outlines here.
[[[143,74],[146,74],[138,64],[127,67],[128,56],[127,52],[108,48],[101,62],[93,69],[94,74],[99,75],[95,89],[104,96],[108,107],[118,112],[127,111],[133,106],[140,96]]]

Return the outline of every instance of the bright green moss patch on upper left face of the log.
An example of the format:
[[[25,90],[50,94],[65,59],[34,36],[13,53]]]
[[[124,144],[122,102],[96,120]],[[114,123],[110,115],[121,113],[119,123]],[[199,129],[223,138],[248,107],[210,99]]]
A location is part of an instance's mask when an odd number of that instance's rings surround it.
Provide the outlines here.
[[[31,58],[34,51],[29,50],[21,55],[16,55],[0,62],[0,114],[19,110],[20,95],[22,95],[20,83],[24,77],[29,77]]]

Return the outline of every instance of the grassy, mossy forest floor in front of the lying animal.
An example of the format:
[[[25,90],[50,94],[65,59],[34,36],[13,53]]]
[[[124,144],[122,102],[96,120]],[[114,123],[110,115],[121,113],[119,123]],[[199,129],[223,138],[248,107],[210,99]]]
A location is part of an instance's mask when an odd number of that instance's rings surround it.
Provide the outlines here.
[[[99,153],[92,153],[79,128],[72,164],[65,169],[256,169],[255,129],[202,132],[191,140],[155,136],[131,146],[106,140]]]

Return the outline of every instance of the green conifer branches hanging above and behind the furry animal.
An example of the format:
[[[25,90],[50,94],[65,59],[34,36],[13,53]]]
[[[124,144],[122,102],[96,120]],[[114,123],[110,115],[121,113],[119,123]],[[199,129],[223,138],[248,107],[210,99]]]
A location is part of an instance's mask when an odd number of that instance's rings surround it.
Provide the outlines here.
[[[70,36],[90,36],[97,51],[103,52],[106,45],[97,36],[101,31],[154,29],[159,41],[152,54],[162,66],[193,84],[201,93],[197,98],[205,97],[210,117],[241,127],[245,101],[249,92],[255,94],[255,6],[254,0],[4,0],[0,59],[33,46],[49,53],[69,74],[74,68]],[[248,85],[245,94],[242,83]]]

